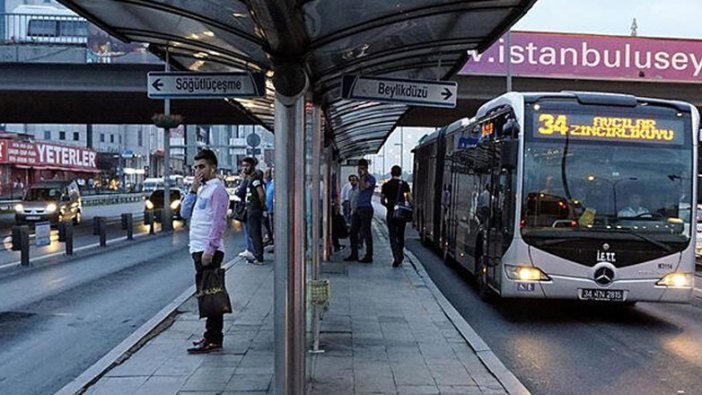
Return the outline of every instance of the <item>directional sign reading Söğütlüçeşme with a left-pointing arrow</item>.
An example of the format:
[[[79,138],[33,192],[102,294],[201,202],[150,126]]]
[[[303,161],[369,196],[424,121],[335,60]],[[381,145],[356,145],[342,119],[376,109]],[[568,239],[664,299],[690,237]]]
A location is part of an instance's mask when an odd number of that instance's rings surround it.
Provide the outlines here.
[[[150,72],[148,76],[151,99],[223,99],[266,94],[263,73]]]

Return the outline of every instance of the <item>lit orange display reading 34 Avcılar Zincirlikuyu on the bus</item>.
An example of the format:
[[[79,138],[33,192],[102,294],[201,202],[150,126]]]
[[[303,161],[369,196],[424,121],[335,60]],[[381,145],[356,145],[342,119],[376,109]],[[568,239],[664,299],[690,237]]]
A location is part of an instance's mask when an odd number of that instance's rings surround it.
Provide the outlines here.
[[[682,122],[594,114],[538,113],[534,137],[637,143],[683,143]]]

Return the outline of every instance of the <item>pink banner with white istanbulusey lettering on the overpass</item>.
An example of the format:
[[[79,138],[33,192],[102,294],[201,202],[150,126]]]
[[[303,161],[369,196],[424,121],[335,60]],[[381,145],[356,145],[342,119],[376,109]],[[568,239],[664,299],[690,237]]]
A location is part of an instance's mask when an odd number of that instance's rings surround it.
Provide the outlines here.
[[[702,82],[702,40],[512,32],[478,54],[459,74],[601,80]]]

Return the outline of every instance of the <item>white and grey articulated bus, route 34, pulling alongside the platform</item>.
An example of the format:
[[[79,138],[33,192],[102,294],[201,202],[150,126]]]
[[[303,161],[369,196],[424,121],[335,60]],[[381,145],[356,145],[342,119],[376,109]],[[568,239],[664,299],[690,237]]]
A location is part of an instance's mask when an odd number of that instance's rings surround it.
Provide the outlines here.
[[[697,109],[507,93],[415,148],[415,226],[484,297],[688,302]]]

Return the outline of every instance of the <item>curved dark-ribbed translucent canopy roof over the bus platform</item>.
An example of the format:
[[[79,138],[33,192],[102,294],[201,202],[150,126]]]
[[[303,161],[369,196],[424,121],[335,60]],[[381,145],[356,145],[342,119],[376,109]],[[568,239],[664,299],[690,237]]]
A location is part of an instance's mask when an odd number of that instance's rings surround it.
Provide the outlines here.
[[[536,0],[60,0],[110,34],[150,44],[174,68],[264,72],[302,62],[342,158],[377,152],[408,107],[341,98],[341,76],[438,80]],[[230,103],[273,130],[273,85]]]

